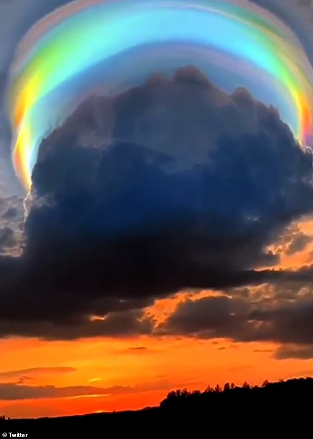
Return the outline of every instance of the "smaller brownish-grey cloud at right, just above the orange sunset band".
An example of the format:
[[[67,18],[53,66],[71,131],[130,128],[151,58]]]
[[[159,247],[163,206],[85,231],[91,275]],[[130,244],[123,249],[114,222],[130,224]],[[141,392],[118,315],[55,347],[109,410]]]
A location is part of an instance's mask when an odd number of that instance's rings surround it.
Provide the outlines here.
[[[275,342],[281,344],[275,358],[309,359],[313,358],[312,315],[312,293],[293,300],[207,297],[178,304],[157,332],[204,339]]]

